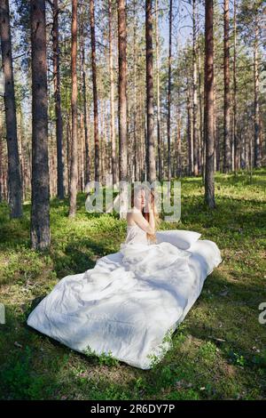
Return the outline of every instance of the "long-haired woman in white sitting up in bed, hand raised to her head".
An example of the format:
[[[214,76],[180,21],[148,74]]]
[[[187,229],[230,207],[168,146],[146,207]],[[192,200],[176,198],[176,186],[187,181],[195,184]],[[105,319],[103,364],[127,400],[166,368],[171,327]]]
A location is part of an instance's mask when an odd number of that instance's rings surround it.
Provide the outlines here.
[[[131,188],[131,209],[127,213],[127,237],[125,244],[156,243],[159,215],[156,211],[153,189],[145,185]]]

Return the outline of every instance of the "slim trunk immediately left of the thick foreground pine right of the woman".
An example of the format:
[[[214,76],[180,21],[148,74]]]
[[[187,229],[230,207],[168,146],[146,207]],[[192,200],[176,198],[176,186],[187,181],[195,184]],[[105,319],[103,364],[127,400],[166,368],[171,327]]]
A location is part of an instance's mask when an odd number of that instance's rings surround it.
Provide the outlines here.
[[[196,53],[196,0],[192,0],[193,20],[193,174],[199,174],[199,140],[198,140],[198,80],[197,80],[197,53]]]

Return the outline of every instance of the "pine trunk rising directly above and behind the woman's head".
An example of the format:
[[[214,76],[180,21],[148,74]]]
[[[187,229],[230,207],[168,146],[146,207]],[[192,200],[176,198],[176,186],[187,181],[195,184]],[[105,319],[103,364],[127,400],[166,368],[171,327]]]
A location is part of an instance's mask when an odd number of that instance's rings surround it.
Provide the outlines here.
[[[150,183],[156,180],[156,165],[154,151],[154,109],[153,109],[153,10],[152,0],[146,0],[146,112],[147,112],[147,151],[148,176]]]

